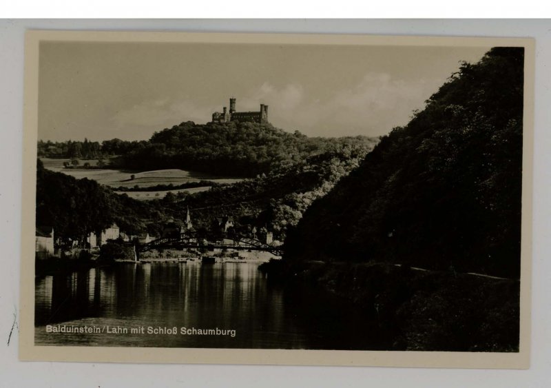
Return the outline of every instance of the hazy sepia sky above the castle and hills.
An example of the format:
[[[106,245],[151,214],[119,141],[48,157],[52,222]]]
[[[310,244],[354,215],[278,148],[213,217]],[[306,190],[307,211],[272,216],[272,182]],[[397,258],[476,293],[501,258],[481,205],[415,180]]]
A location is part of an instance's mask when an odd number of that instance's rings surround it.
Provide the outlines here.
[[[145,140],[229,108],[308,136],[406,125],[460,61],[489,48],[41,42],[39,139]]]

